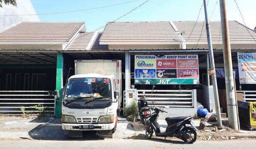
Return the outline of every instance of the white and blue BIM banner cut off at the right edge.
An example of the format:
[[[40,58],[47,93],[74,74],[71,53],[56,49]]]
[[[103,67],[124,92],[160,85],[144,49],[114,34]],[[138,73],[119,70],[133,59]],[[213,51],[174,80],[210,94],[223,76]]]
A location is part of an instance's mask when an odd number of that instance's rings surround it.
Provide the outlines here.
[[[256,84],[256,53],[237,54],[240,84]]]

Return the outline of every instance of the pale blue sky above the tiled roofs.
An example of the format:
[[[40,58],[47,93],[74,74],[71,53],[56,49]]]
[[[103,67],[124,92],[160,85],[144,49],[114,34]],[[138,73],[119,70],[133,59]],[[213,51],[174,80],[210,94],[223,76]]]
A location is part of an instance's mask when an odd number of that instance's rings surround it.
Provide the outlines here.
[[[132,0],[31,0],[38,14],[90,9],[128,1]],[[105,26],[106,22],[112,22],[123,16],[145,1],[146,0],[137,0],[122,5],[94,10],[38,15],[38,17],[41,21],[84,21],[86,31],[94,31],[95,29]],[[235,1],[226,1],[228,20],[236,20],[252,29],[255,28],[255,0],[236,0],[245,23],[242,20]],[[196,21],[202,4],[203,0],[149,0],[138,9],[117,21]],[[210,21],[220,20],[219,0],[208,0],[208,15]],[[204,20],[203,6],[198,20]],[[98,29],[98,31],[102,30],[103,28]]]

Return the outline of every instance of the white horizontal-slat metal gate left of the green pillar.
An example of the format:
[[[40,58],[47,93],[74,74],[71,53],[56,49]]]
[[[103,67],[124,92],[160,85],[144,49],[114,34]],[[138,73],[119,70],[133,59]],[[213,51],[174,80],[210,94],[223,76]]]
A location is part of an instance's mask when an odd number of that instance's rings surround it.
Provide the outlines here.
[[[54,116],[55,100],[52,93],[53,91],[0,91],[0,115],[19,116],[25,112],[28,115]]]

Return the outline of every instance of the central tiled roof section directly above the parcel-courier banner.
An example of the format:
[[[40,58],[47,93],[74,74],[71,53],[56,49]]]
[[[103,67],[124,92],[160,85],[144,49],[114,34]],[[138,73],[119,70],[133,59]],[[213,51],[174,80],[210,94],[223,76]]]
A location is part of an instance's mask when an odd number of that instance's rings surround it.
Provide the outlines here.
[[[169,21],[163,22],[113,22],[107,23],[100,43],[137,42],[175,42],[181,40]],[[149,43],[150,44],[150,43]]]

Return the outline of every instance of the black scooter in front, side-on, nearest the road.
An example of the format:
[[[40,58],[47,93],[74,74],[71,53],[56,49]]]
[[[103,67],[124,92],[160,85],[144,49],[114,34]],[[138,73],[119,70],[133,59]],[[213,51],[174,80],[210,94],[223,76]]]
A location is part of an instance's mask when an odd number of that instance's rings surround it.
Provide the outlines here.
[[[155,102],[153,101],[155,105]],[[169,108],[166,106],[165,108]],[[150,139],[155,131],[155,135],[159,137],[176,137],[182,139],[186,143],[194,143],[197,139],[196,131],[199,131],[194,125],[191,116],[180,116],[180,117],[166,117],[167,128],[165,132],[160,132],[160,127],[157,122],[159,112],[164,113],[160,107],[150,107],[154,112],[147,118],[146,125],[146,138]],[[166,112],[167,113],[167,112]],[[191,125],[187,127],[186,124]],[[200,132],[200,131],[199,131]]]

